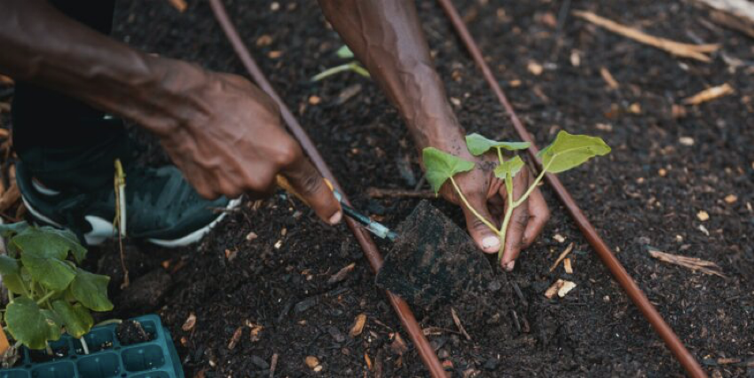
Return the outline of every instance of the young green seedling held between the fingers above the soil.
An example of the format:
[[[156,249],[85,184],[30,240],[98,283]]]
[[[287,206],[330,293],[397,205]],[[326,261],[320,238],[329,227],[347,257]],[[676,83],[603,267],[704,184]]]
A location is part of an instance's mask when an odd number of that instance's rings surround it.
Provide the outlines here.
[[[434,147],[427,147],[423,150],[424,166],[427,169],[427,181],[432,185],[435,193],[439,193],[444,183],[450,180],[453,190],[458,193],[463,204],[466,205],[475,217],[479,218],[483,224],[499,236],[500,249],[498,252],[498,261],[503,257],[503,250],[506,245],[506,232],[513,215],[513,210],[529,198],[531,192],[534,191],[546,173],[560,173],[576,168],[594,156],[601,156],[610,152],[610,147],[601,138],[586,135],[571,135],[566,131],[561,131],[550,146],[546,146],[545,149],[539,152],[538,158],[542,161],[542,170],[538,177],[520,198],[514,199],[513,178],[521,171],[524,162],[518,155],[506,159],[503,156],[503,150],[509,152],[523,150],[529,148],[529,142],[499,142],[484,138],[479,134],[470,134],[466,137],[466,145],[468,151],[475,156],[485,154],[492,149],[497,152],[499,164],[495,167],[494,173],[495,177],[499,177],[504,181],[507,192],[507,209],[500,228],[495,227],[490,220],[482,217],[468,203],[466,196],[461,192],[459,185],[453,178],[459,173],[474,169],[474,162],[460,159]]]

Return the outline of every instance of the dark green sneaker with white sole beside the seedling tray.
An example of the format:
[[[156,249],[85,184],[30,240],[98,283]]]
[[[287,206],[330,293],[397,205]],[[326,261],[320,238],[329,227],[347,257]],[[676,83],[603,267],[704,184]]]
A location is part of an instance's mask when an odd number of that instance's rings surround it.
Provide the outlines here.
[[[37,184],[21,161],[16,171],[21,198],[36,222],[68,229],[90,246],[117,237],[112,185],[93,192],[52,190]],[[225,197],[205,200],[173,166],[153,169],[134,164],[125,174],[128,236],[162,247],[200,240],[225,217],[224,210],[240,203]]]

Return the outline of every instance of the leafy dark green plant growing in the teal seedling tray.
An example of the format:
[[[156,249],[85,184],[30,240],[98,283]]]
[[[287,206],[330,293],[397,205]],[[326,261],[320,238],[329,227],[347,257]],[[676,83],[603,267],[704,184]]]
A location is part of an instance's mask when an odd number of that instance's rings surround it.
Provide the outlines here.
[[[81,339],[94,325],[90,311],[110,311],[107,276],[76,266],[86,249],[71,232],[34,227],[25,222],[0,225],[8,255],[0,256],[0,274],[10,302],[3,324],[17,346],[49,350],[63,332]]]

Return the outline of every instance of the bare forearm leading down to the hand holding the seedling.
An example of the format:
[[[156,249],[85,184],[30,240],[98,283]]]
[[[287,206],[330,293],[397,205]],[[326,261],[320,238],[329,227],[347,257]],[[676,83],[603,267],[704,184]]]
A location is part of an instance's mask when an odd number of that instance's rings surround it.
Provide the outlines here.
[[[456,150],[463,130],[429,56],[412,1],[319,0],[328,21],[411,130],[417,146]]]

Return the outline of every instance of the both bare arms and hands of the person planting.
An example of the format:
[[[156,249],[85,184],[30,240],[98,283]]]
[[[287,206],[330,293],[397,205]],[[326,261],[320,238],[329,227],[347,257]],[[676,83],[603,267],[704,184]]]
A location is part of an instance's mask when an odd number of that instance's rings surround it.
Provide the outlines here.
[[[491,171],[495,156],[468,153],[465,131],[429,57],[413,2],[320,0],[323,12],[402,114],[420,149],[434,146],[476,161],[457,182],[483,217],[499,224],[506,190]],[[203,196],[253,198],[271,193],[282,174],[329,224],[342,212],[333,193],[285,130],[274,101],[238,75],[209,72],[146,54],[70,20],[43,0],[0,0],[0,72],[46,86],[137,122],[160,138],[172,161]],[[264,138],[258,138],[264,136]],[[515,177],[514,197],[530,172]],[[442,194],[458,204],[452,188]],[[487,253],[491,230],[463,208],[467,227]],[[515,258],[541,232],[549,210],[538,190],[514,210],[501,261]]]

